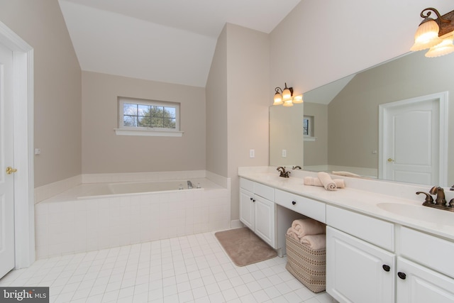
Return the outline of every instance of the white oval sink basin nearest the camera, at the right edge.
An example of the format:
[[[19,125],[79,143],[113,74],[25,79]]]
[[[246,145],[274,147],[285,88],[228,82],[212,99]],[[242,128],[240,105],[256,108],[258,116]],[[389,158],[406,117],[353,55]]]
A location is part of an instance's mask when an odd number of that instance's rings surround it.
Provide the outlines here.
[[[379,203],[377,206],[392,214],[406,216],[409,219],[454,226],[454,212],[432,209],[427,206],[399,203]]]

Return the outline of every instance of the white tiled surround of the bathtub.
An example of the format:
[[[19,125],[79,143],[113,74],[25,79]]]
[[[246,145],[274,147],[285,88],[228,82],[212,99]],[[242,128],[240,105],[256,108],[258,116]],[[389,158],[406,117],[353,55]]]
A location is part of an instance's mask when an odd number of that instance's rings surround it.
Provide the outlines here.
[[[208,179],[187,189],[186,180],[184,190],[87,199],[93,184],[82,184],[35,204],[37,259],[229,228],[230,190]]]

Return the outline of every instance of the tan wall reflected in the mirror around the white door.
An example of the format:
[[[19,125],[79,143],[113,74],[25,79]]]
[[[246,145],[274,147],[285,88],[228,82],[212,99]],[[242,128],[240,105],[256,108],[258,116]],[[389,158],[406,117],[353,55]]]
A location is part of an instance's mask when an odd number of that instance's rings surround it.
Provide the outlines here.
[[[379,104],[448,91],[448,116],[454,117],[453,63],[453,56],[428,59],[419,52],[353,77],[328,106],[329,164],[378,167],[371,152],[378,150]],[[454,121],[448,119],[448,133],[453,132]],[[448,167],[454,167],[454,140],[449,138]],[[452,169],[448,183],[454,183]]]

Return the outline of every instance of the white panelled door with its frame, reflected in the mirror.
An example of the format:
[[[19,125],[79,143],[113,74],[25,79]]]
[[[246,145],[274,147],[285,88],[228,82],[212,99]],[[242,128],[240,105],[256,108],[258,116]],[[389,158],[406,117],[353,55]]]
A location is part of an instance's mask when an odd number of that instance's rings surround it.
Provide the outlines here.
[[[446,186],[442,99],[434,94],[380,106],[383,179]]]

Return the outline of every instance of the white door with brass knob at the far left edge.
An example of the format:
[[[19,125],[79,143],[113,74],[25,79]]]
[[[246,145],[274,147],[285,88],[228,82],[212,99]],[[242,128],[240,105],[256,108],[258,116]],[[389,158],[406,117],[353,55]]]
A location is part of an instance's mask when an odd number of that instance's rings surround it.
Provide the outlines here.
[[[12,73],[13,53],[0,45],[0,277],[15,262]]]

